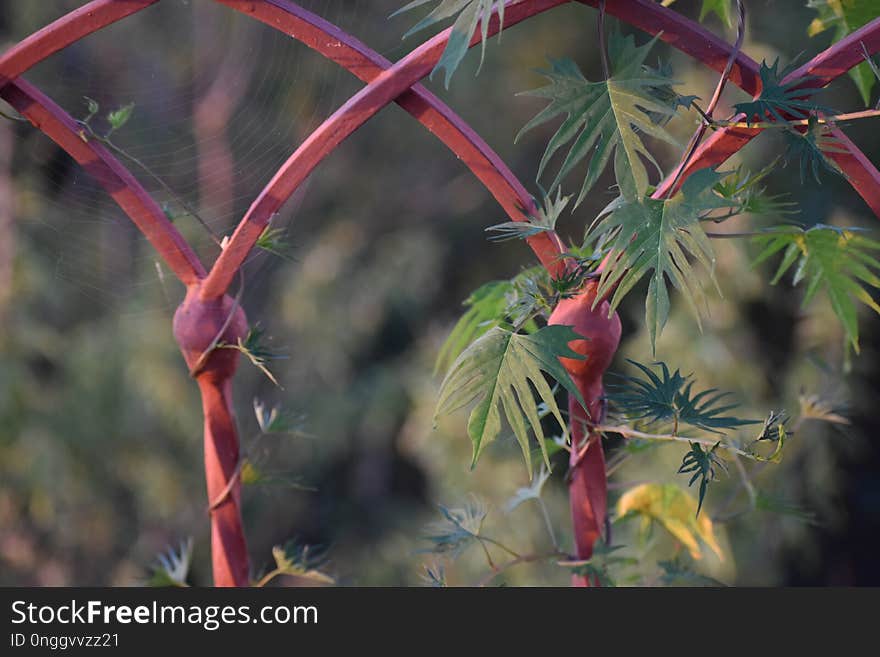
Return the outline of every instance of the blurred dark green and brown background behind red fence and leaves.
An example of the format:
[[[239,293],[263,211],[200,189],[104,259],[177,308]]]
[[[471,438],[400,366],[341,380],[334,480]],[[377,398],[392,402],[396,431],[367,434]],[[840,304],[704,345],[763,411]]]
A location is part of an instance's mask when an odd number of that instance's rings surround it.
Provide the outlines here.
[[[73,0],[0,1],[0,43],[8,46],[77,6]],[[397,59],[422,36],[401,41],[415,15],[388,19],[402,0],[303,0],[320,14]],[[805,0],[749,3],[745,50],[783,63],[811,56],[830,36],[807,36],[815,16]],[[699,3],[675,9],[696,17]],[[575,59],[600,74],[596,12],[563,6],[505,32],[471,53],[450,90],[429,83],[537,191],[537,163],[554,129],[519,128],[538,111],[517,92],[539,86],[547,57]],[[716,19],[708,27],[732,40]],[[628,28],[624,28],[628,30]],[[427,35],[424,35],[427,36]],[[639,36],[642,39],[642,36]],[[666,46],[681,90],[711,95],[716,74]],[[51,57],[27,74],[75,116],[84,96],[102,113],[135,103],[115,141],[199,208],[219,234],[232,227],[274,170],[360,83],[290,38],[208,0],[165,0]],[[722,113],[744,100],[725,94]],[[876,93],[875,93],[876,99]],[[822,100],[863,107],[848,78]],[[683,141],[695,116],[671,130]],[[877,124],[847,133],[880,162]],[[760,167],[780,152],[762,137],[741,161]],[[676,153],[658,150],[668,167]],[[156,196],[176,206],[137,172]],[[606,178],[560,231],[579,242],[611,198]],[[569,181],[567,188],[574,189]],[[797,166],[768,181],[798,201],[797,220],[874,228],[876,218],[848,184],[826,174],[802,184]],[[242,365],[236,403],[245,449],[266,477],[248,486],[244,514],[256,569],[271,548],[297,537],[328,546],[328,569],[346,585],[417,585],[424,526],[437,505],[479,495],[490,507],[486,531],[523,552],[547,548],[538,509],[506,513],[527,483],[511,438],[470,471],[465,418],[432,414],[439,379],[433,363],[468,293],[532,263],[521,243],[492,244],[483,229],[503,221],[479,183],[439,142],[389,107],[340,148],[284,208],[276,226],[292,244],[288,260],[248,263],[243,304],[270,344],[287,356],[272,364],[282,387]],[[745,218],[738,227],[778,223]],[[181,229],[206,258],[216,247],[186,217]],[[713,297],[702,333],[676,303],[657,357],[701,385],[732,391],[742,413],[796,413],[802,393],[820,395],[850,418],[846,427],[808,423],[784,462],[756,484],[797,507],[800,517],[753,512],[717,523],[725,550],[697,569],[728,584],[880,583],[880,319],[862,313],[861,354],[848,363],[840,328],[820,299],[800,308],[790,279],[766,281],[750,268],[749,244],[716,243],[724,298]],[[650,362],[643,293],[621,309],[626,357]],[[202,473],[201,415],[171,335],[183,289],[157,264],[149,244],[73,161],[28,124],[0,121],[0,584],[133,585],[156,555],[192,537],[190,581],[210,582]],[[308,437],[257,439],[252,401],[303,416]],[[679,446],[652,450],[620,468],[612,496],[645,480],[686,484],[675,470]],[[568,544],[564,472],[547,485],[550,515]],[[713,484],[720,513],[735,475]],[[742,498],[740,498],[742,502]],[[626,541],[628,534],[619,535]],[[631,537],[630,537],[631,538]],[[640,563],[627,581],[656,583],[657,558],[671,543],[635,544]],[[447,565],[450,584],[486,573],[478,549]],[[529,565],[510,584],[563,585],[559,568]]]

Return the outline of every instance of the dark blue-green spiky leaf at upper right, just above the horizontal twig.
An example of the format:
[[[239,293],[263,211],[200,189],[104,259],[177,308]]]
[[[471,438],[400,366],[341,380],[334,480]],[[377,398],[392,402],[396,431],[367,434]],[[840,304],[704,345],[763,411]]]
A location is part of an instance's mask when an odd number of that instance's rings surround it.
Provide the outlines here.
[[[817,111],[833,114],[834,110],[810,100],[821,89],[804,87],[804,82],[809,78],[782,83],[792,70],[793,66],[789,65],[780,71],[779,58],[773,62],[773,66],[768,66],[766,61],[761,62],[761,95],[754,100],[735,103],[734,110],[745,114],[748,123],[765,121],[768,118],[785,123],[790,119],[805,119],[810,113]]]

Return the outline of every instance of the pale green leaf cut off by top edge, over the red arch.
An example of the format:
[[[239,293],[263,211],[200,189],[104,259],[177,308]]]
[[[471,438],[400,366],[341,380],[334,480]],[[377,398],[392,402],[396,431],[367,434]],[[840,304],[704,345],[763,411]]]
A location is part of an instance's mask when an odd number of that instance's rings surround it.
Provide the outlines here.
[[[395,11],[391,16],[397,16],[398,14],[402,14],[435,1],[437,0],[414,0],[414,2],[410,2],[408,5]],[[489,38],[489,19],[492,17],[492,14],[497,11],[499,23],[503,26],[504,7],[504,0],[439,0],[433,11],[416,23],[403,38],[405,39],[416,32],[420,32],[421,30],[450,19],[458,14],[458,17],[452,25],[452,33],[449,35],[449,41],[446,44],[446,49],[443,51],[443,56],[431,72],[431,77],[433,77],[434,73],[441,69],[445,69],[445,84],[448,89],[452,75],[455,73],[459,64],[461,64],[461,60],[464,59],[465,54],[467,54],[471,39],[474,36],[474,32],[477,30],[478,23],[483,37],[480,52],[480,66],[482,67],[483,59],[486,56],[486,41]]]

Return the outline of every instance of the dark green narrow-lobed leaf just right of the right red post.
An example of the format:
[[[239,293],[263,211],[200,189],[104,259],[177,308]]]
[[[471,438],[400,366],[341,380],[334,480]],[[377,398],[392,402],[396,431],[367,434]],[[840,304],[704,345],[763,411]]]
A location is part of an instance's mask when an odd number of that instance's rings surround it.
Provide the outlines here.
[[[676,430],[682,425],[689,425],[716,434],[722,434],[726,429],[759,424],[758,420],[726,415],[737,407],[736,404],[719,405],[728,393],[718,392],[715,388],[694,393],[693,379],[682,376],[680,370],[670,373],[666,363],[658,363],[658,376],[641,363],[629,362],[639,368],[646,378],[616,374],[623,384],[607,386],[608,401],[628,418],[644,419],[649,423],[671,422]]]

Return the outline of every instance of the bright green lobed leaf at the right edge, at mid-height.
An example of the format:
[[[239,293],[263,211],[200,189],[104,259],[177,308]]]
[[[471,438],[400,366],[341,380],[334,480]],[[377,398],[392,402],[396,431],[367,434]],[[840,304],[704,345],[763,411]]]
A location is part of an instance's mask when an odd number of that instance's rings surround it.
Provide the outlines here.
[[[834,314],[843,324],[846,338],[859,351],[859,326],[856,301],[880,314],[880,305],[865,286],[880,288],[880,260],[872,252],[880,251],[880,242],[865,237],[857,228],[836,228],[818,224],[804,230],[798,226],[778,226],[754,238],[763,250],[755,259],[758,265],[782,253],[771,283],[779,282],[797,263],[794,284],[806,281],[803,306],[806,307],[824,288]]]

